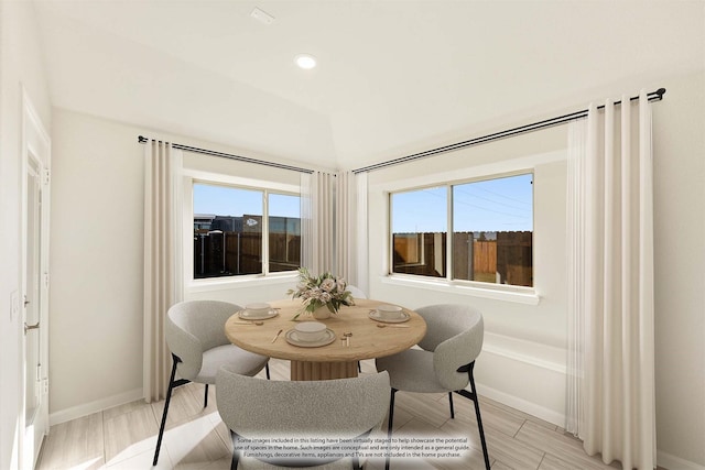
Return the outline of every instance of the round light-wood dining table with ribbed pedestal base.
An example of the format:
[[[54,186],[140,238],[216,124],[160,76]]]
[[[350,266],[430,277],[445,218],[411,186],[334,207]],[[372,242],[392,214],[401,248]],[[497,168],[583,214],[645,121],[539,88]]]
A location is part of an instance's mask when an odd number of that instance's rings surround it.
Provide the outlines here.
[[[413,310],[403,308],[409,319],[403,323],[382,323],[370,317],[370,311],[384,304],[371,299],[356,299],[354,306],[344,306],[329,318],[315,320],[301,311],[300,299],[269,303],[278,315],[257,325],[243,320],[238,313],[225,324],[228,339],[236,346],[270,358],[291,361],[291,380],[328,380],[357,376],[357,364],[362,359],[381,358],[404,351],[416,345],[426,334],[426,323]],[[335,334],[325,346],[295,346],[288,341],[286,332],[297,321],[321,321]],[[383,327],[378,327],[378,325]],[[351,334],[346,340],[346,334]]]

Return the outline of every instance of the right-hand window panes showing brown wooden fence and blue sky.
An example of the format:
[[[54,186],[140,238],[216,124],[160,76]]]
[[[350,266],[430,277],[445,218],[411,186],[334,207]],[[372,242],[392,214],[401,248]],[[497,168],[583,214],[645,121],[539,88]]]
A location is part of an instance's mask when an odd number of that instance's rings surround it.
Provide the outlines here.
[[[392,273],[533,286],[532,174],[393,193],[390,205]]]

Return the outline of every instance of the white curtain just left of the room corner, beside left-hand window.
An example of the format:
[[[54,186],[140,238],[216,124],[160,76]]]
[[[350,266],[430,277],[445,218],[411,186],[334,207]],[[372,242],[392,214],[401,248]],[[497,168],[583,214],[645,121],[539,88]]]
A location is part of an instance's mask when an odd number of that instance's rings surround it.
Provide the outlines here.
[[[335,175],[314,172],[301,175],[301,265],[313,274],[333,272]]]

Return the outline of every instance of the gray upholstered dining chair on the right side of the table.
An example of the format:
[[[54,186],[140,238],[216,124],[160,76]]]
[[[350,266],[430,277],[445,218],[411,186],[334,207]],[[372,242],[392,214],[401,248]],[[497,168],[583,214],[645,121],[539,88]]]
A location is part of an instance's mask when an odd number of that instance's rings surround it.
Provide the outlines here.
[[[378,371],[389,373],[391,384],[388,437],[391,438],[392,434],[394,394],[398,391],[448,392],[452,418],[455,417],[455,392],[475,403],[485,467],[489,470],[489,455],[473,375],[475,359],[482,349],[482,315],[471,307],[455,304],[431,305],[415,311],[426,321],[426,335],[419,342],[421,349],[409,349],[376,361]],[[468,383],[469,392],[465,390]],[[389,458],[384,468],[389,469]]]

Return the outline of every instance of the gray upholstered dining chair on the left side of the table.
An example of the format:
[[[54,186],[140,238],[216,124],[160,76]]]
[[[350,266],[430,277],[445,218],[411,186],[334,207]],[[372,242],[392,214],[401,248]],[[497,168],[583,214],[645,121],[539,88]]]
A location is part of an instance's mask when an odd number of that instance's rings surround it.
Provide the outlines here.
[[[225,323],[241,307],[218,300],[188,300],[174,304],[166,313],[166,345],[172,351],[172,373],[166,391],[162,424],[154,449],[155,466],[162,447],[169,403],[174,387],[188,382],[206,385],[203,406],[208,406],[208,385],[216,383],[221,365],[243,375],[256,375],[267,369],[269,358],[246,351],[232,345],[225,336]],[[176,372],[181,379],[175,380]]]

